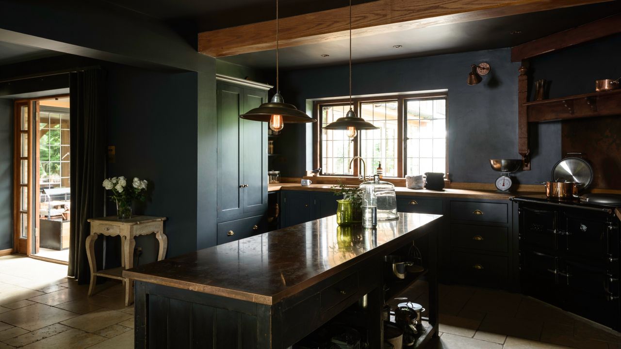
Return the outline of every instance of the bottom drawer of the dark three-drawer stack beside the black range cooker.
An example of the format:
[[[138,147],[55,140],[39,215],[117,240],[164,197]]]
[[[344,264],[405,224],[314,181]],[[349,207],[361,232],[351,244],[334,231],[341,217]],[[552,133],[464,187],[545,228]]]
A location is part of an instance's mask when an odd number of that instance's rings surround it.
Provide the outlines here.
[[[509,260],[503,256],[453,252],[453,281],[489,288],[506,288]]]

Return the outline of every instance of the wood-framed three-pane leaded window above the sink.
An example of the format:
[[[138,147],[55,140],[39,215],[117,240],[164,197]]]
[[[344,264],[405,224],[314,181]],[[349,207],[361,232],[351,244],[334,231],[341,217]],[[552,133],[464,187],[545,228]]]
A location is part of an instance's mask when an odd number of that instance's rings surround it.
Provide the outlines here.
[[[315,129],[314,166],[321,167],[324,175],[357,174],[358,161],[349,168],[356,155],[365,160],[366,174],[375,173],[380,163],[386,177],[447,172],[446,94],[352,99],[356,115],[379,127],[359,131],[353,140],[344,130],[322,128],[345,116],[349,100],[317,101],[314,107],[320,120]]]

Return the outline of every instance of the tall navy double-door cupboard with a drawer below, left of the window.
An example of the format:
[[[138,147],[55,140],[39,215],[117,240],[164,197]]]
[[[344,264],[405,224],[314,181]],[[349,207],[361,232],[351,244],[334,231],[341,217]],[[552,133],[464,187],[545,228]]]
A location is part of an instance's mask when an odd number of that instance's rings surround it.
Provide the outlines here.
[[[244,81],[241,84],[217,82],[219,244],[236,240],[225,238],[220,233],[220,224],[263,215],[267,209],[267,124],[240,119],[239,115],[265,102],[268,88],[256,83],[248,86]],[[251,232],[263,231],[265,228]],[[242,235],[248,233],[233,237],[246,237]]]

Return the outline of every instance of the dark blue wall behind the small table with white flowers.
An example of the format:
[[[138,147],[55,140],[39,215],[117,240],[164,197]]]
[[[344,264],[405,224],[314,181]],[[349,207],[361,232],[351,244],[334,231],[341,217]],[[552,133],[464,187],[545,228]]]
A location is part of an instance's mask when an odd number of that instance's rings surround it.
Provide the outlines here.
[[[164,73],[107,65],[108,144],[116,147],[109,176],[147,179],[148,201],[138,214],[168,217],[168,255],[197,247],[197,73]],[[109,204],[108,214],[116,214]],[[155,238],[137,239],[144,261]],[[142,260],[141,260],[142,263]]]

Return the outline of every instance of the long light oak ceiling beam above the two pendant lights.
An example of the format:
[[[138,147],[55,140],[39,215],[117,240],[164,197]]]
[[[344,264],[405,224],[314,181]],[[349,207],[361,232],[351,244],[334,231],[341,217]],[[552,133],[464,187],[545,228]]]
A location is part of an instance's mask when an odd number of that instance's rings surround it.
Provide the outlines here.
[[[607,1],[611,0],[377,0],[353,6],[352,34],[374,35]],[[346,39],[349,9],[282,18],[279,27],[280,47]],[[276,20],[268,20],[199,33],[198,50],[211,57],[273,50],[275,37]]]

